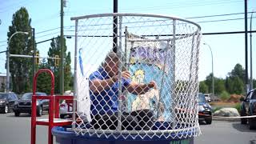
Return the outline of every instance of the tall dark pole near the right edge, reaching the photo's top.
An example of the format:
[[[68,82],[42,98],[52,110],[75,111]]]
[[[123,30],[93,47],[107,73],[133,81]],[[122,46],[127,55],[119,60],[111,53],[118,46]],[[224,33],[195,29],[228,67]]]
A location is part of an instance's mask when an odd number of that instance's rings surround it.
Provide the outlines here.
[[[248,92],[248,42],[247,42],[247,36],[248,36],[248,31],[247,31],[247,0],[245,0],[245,54],[246,54],[246,92]]]

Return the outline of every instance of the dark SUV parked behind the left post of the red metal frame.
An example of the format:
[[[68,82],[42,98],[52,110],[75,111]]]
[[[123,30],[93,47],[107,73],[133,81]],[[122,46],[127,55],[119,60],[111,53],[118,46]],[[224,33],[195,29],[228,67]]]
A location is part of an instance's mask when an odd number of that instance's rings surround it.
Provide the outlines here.
[[[39,96],[46,96],[46,93],[36,93]],[[31,114],[32,107],[32,93],[25,93],[22,98],[14,105],[14,114],[16,117],[21,113]],[[42,99],[37,101],[37,115],[42,116],[43,110],[49,110],[49,99]]]

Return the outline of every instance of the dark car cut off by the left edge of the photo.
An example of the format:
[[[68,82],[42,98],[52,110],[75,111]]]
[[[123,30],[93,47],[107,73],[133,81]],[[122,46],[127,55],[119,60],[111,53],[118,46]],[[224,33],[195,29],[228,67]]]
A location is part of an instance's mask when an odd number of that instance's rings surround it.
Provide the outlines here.
[[[8,113],[14,109],[14,105],[18,103],[18,97],[14,93],[0,93],[0,111]]]

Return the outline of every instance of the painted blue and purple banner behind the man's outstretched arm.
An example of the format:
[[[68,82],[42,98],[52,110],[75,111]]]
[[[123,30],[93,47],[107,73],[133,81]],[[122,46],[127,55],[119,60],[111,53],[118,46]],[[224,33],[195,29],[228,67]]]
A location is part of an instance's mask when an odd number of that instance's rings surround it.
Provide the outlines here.
[[[150,46],[137,46],[130,50],[129,70],[132,80],[138,83],[154,81],[158,89],[151,89],[146,94],[128,94],[128,111],[150,109],[159,120],[164,120],[170,112],[165,109],[170,106],[170,62],[165,58],[170,57],[167,49],[159,49]],[[167,84],[169,83],[169,84]],[[160,95],[160,90],[162,93]]]

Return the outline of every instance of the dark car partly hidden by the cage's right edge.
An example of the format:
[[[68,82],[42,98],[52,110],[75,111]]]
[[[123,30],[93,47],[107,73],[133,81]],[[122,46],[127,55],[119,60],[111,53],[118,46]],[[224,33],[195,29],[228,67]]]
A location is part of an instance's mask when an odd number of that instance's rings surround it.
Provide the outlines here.
[[[204,94],[198,94],[198,120],[206,121],[206,124],[211,124],[212,122],[212,108],[206,101]]]

